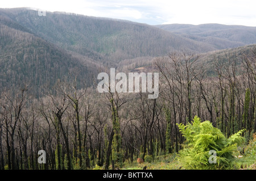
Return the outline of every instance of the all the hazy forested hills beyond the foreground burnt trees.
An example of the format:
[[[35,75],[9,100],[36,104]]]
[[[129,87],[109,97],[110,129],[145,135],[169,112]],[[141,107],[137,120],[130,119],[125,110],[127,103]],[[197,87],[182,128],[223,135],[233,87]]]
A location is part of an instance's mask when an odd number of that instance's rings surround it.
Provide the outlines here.
[[[174,51],[207,53],[256,43],[254,27],[150,26],[127,20],[0,9],[1,90],[26,82],[34,95],[64,77],[92,85],[109,68],[129,71]],[[75,73],[75,74],[74,74]]]

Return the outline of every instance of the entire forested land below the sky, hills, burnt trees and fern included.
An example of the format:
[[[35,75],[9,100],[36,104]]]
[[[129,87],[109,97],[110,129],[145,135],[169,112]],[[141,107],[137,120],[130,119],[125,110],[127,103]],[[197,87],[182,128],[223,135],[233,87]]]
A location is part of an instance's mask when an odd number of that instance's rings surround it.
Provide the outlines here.
[[[0,9],[0,170],[255,169],[254,29],[168,28]],[[158,98],[98,92],[110,68]]]

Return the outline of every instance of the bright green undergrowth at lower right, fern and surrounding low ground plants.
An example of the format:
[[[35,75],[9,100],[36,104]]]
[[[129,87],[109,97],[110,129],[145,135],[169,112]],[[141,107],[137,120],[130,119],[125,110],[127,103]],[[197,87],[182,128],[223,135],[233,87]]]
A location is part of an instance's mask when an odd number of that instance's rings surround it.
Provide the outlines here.
[[[256,170],[256,133],[247,143],[238,131],[229,138],[209,121],[201,121],[197,116],[191,124],[179,124],[185,137],[183,149],[179,153],[157,155],[154,162],[125,162],[123,170],[177,170],[177,169],[254,169]],[[216,157],[213,157],[216,151]],[[212,158],[213,159],[212,159]],[[212,161],[212,162],[210,162]],[[100,169],[96,167],[95,169]]]

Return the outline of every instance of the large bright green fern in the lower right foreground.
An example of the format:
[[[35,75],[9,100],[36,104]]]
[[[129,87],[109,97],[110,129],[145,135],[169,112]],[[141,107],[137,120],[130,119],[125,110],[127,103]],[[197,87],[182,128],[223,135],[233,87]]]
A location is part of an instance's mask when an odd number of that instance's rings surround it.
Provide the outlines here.
[[[220,129],[214,128],[209,121],[202,122],[197,116],[191,124],[178,126],[186,141],[177,159],[185,169],[228,168],[231,166],[233,151],[243,141],[241,134],[244,130],[226,138]],[[210,150],[216,151],[216,163],[210,163]]]

